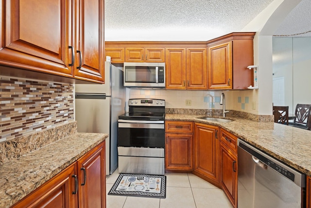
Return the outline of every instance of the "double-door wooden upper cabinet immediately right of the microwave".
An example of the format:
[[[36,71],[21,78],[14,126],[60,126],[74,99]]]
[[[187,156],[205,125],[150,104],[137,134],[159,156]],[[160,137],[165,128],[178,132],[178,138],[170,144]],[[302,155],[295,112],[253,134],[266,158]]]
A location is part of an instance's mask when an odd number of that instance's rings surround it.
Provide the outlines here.
[[[166,89],[207,90],[207,49],[166,48]]]

